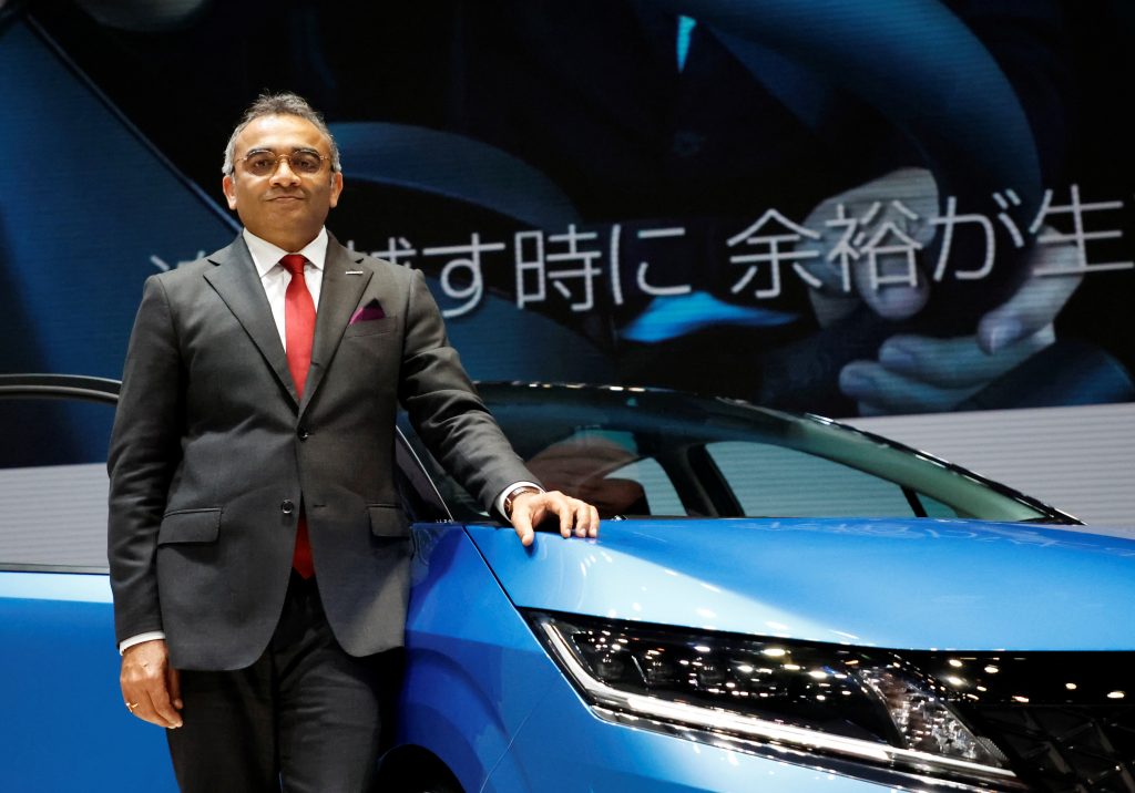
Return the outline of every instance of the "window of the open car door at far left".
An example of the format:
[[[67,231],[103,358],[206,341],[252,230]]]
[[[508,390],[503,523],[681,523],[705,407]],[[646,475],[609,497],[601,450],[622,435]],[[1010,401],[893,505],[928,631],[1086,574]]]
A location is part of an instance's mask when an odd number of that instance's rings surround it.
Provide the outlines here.
[[[0,567],[107,567],[107,444],[115,408],[0,398]]]

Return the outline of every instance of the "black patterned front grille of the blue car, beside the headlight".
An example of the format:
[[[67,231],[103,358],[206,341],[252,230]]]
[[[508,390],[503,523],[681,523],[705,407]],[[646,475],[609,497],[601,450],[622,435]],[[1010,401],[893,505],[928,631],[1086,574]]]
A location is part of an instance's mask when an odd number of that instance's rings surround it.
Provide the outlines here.
[[[1135,793],[1135,707],[959,708],[1037,791]]]

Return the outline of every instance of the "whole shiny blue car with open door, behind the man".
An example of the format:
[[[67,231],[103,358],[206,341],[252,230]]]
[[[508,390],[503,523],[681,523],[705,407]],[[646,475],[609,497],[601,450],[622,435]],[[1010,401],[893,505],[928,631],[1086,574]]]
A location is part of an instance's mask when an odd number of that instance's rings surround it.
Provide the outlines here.
[[[1135,542],[815,416],[480,390],[545,484],[606,520],[526,549],[403,427],[390,790],[1135,790]],[[175,790],[117,686],[116,394],[0,378],[5,790]]]

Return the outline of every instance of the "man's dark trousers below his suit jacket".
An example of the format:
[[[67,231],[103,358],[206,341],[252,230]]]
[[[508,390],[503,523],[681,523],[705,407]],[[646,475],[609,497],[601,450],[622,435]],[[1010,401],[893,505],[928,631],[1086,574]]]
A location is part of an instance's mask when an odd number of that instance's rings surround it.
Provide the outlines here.
[[[268,649],[234,672],[182,672],[184,726],[168,729],[186,793],[360,793],[375,771],[402,682],[401,650],[347,655],[314,580],[293,572]]]

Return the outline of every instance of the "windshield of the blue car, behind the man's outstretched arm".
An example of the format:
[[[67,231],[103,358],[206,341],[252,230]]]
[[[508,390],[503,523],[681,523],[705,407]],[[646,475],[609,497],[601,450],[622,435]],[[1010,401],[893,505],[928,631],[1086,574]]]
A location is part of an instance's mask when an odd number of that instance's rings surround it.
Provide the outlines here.
[[[632,388],[479,387],[548,489],[604,517],[966,517],[1075,523],[926,454],[815,416]],[[454,517],[484,508],[403,431]]]

